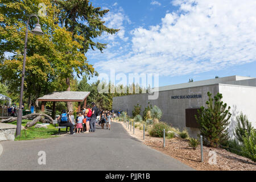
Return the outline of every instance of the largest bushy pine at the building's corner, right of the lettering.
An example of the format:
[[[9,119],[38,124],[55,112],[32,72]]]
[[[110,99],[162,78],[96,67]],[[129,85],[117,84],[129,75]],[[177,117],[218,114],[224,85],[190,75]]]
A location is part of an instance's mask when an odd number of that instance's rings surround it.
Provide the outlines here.
[[[213,100],[212,94],[208,92],[208,97],[207,108],[202,106],[198,110],[199,117],[197,118],[195,115],[195,118],[200,125],[200,133],[205,144],[218,147],[229,139],[228,126],[232,114],[229,113],[230,106],[226,109],[226,103],[223,104],[223,101],[221,101],[222,94],[217,93]]]

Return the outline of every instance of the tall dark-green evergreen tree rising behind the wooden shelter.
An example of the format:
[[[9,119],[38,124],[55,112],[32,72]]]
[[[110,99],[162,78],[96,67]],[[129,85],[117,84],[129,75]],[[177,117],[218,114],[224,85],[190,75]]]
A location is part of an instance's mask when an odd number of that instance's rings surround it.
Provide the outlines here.
[[[108,28],[104,25],[105,22],[102,18],[109,10],[101,10],[100,7],[93,7],[89,0],[56,0],[55,2],[60,10],[59,19],[61,26],[72,32],[73,40],[76,40],[82,45],[79,51],[83,54],[90,48],[93,50],[97,48],[102,52],[106,48],[106,43],[94,42],[94,38],[101,36],[103,32],[115,34],[118,31],[117,29]],[[83,39],[77,39],[77,35],[82,36]],[[91,67],[92,65],[89,64],[78,67],[79,69],[75,70],[77,76],[80,77],[84,72],[90,75],[93,73]],[[67,72],[64,77],[68,85],[67,90],[69,91],[69,79],[73,75]],[[72,102],[68,102],[68,107],[72,107]]]

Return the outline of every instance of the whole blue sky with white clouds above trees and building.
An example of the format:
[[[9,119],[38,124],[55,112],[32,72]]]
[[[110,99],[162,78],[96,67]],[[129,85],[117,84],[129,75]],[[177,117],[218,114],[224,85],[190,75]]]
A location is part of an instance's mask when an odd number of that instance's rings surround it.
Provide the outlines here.
[[[93,0],[119,28],[89,51],[98,73],[158,73],[159,86],[225,76],[256,77],[255,0]],[[93,78],[91,81],[95,81]]]

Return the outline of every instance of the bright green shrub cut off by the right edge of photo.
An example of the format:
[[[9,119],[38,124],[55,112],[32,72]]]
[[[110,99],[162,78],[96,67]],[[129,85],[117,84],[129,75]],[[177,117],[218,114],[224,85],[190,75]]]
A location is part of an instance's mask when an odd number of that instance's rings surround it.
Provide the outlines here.
[[[247,158],[250,158],[256,162],[256,130],[253,129],[251,134],[246,131],[245,137],[243,137],[242,151],[245,153]]]

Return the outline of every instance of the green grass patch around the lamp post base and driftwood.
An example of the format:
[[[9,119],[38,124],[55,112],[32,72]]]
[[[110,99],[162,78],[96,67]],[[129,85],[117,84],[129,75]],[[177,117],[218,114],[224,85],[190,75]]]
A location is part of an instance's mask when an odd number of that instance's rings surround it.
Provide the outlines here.
[[[31,120],[23,119],[22,120],[22,126],[26,126],[27,122],[30,122]],[[40,122],[38,122],[40,123]],[[16,121],[11,122],[9,124],[16,125]],[[25,130],[21,131],[21,136],[15,137],[15,141],[18,140],[33,140],[33,139],[45,139],[45,138],[54,138],[58,137],[56,134],[58,134],[58,129],[55,129],[54,125],[48,125],[47,129],[40,128],[36,129],[35,126],[30,127],[26,130],[26,135],[25,135]],[[65,129],[63,129],[65,130]]]

